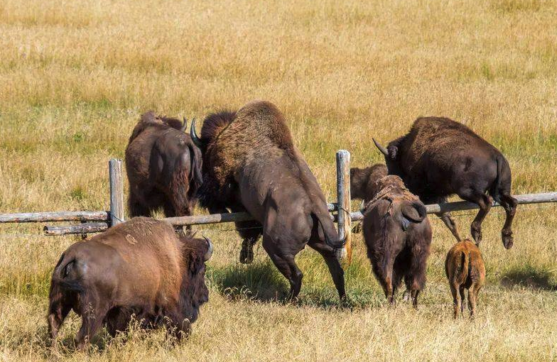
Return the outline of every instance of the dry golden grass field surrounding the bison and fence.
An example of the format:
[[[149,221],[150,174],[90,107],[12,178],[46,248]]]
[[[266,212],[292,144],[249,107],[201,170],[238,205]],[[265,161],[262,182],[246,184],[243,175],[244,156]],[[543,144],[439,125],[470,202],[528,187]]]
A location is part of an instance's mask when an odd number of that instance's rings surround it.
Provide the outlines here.
[[[0,0],[0,212],[107,209],[107,161],[122,158],[141,112],[202,118],[269,99],[328,199],[335,151],[382,158],[417,116],[448,116],[497,146],[515,194],[557,190],[557,1]],[[484,223],[487,287],[478,316],[452,319],[435,217],[421,306],[386,305],[355,237],[350,308],[323,260],[298,256],[298,305],[257,247],[237,262],[230,224],[215,242],[210,302],[188,341],[132,327],[75,352],[73,315],[46,347],[50,273],[76,237],[0,226],[0,361],[550,361],[557,359],[557,206],[502,210]],[[458,214],[458,213],[457,213]],[[461,212],[462,234],[473,215]]]

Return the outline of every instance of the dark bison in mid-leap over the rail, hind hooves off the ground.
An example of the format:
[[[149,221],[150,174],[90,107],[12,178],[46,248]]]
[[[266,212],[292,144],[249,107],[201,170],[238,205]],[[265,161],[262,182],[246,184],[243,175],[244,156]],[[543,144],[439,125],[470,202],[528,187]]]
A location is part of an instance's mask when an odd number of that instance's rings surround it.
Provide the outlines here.
[[[470,227],[476,243],[482,240],[482,221],[493,199],[499,202],[507,212],[502,229],[503,245],[507,249],[512,247],[511,226],[517,199],[511,196],[509,163],[497,148],[463,124],[439,117],[416,119],[410,132],[391,141],[386,149],[373,141],[385,155],[389,174],[402,177],[422,202],[446,202],[446,197],[458,194],[478,204],[480,212]],[[440,216],[460,241],[450,214]]]

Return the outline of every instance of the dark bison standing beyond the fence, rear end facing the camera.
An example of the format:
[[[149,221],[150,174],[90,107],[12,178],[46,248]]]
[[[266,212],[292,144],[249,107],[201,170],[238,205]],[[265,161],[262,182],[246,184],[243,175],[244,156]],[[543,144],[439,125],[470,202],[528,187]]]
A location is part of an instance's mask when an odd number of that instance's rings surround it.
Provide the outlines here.
[[[191,215],[202,184],[202,156],[184,133],[186,122],[152,111],[141,116],[126,147],[130,216]]]

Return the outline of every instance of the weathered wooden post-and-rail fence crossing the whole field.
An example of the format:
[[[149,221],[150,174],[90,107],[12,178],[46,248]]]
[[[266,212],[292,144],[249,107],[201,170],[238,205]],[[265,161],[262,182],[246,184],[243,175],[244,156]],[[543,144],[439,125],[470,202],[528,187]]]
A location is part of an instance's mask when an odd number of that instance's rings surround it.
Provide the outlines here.
[[[350,152],[339,150],[336,154],[337,164],[337,202],[329,203],[328,210],[331,219],[337,223],[338,233],[345,238],[345,248],[337,256],[352,260],[352,221],[363,219],[361,212],[352,212],[350,208]],[[109,161],[110,205],[108,211],[74,211],[74,212],[32,212],[22,214],[0,214],[1,223],[49,223],[59,221],[78,221],[80,224],[72,225],[45,225],[43,232],[48,236],[70,234],[90,234],[107,230],[110,226],[124,221],[124,182],[122,178],[121,160]],[[557,202],[557,192],[544,192],[539,194],[514,195],[519,204],[540,204]],[[497,202],[494,207],[499,207]],[[440,212],[463,211],[477,209],[477,204],[471,202],[445,202],[442,204],[426,205],[428,214]],[[164,220],[174,226],[221,224],[234,221],[252,221],[247,212],[232,212],[228,214],[208,214],[195,216],[168,217]]]

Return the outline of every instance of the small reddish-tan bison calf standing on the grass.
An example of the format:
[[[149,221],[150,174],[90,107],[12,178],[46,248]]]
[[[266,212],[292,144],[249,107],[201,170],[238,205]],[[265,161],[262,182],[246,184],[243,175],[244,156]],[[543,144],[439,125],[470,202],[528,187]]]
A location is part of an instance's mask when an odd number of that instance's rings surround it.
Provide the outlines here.
[[[476,299],[485,285],[485,265],[480,249],[466,239],[455,243],[445,259],[445,273],[453,294],[455,318],[464,312],[464,290],[468,290],[468,309],[470,317],[476,312]]]

